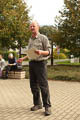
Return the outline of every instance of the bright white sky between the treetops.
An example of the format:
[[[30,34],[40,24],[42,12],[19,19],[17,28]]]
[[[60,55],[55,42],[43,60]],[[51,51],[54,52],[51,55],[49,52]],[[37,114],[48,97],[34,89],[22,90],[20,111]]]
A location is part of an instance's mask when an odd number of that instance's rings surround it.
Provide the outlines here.
[[[54,25],[55,17],[64,5],[64,0],[25,0],[31,6],[29,16],[40,25]]]

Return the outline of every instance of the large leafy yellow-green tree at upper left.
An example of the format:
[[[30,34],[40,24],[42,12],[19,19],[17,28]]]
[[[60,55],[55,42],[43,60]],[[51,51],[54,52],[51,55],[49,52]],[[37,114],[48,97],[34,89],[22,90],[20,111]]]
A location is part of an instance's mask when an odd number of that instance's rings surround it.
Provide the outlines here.
[[[27,44],[30,21],[28,13],[28,6],[22,0],[0,0],[0,43],[2,47],[21,48]]]

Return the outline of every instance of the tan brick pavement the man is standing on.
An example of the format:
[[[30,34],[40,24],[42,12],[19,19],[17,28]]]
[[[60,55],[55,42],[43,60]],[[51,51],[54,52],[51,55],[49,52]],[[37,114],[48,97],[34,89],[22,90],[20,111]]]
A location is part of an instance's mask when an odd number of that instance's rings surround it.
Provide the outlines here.
[[[52,115],[30,111],[29,80],[0,79],[0,120],[80,120],[80,83],[49,81]]]

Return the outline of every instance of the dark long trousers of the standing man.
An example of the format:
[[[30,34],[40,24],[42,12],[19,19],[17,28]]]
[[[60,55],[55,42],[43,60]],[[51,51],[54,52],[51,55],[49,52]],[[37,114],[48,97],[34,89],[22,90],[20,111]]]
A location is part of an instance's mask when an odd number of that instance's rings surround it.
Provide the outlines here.
[[[33,94],[33,104],[42,105],[40,91],[44,107],[51,107],[50,93],[47,81],[46,61],[29,62],[30,87]]]

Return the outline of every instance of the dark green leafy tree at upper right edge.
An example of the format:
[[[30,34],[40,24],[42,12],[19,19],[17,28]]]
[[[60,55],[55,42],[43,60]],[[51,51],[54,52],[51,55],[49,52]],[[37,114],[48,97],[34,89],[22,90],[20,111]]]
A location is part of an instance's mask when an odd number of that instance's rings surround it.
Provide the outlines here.
[[[74,56],[80,56],[80,1],[64,0],[64,9],[56,19],[60,39],[58,44],[68,48]]]

